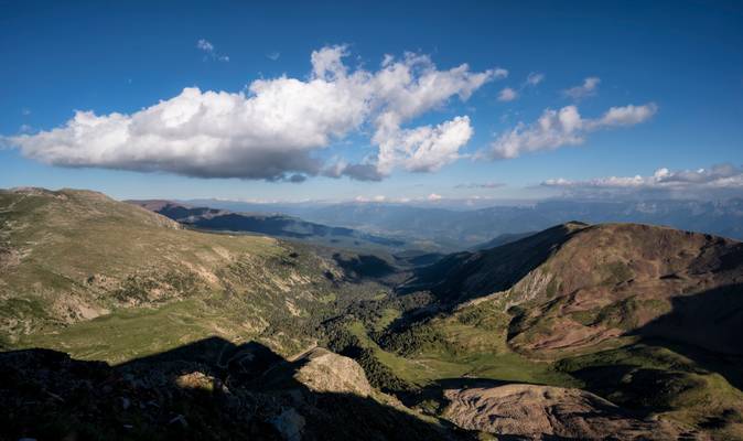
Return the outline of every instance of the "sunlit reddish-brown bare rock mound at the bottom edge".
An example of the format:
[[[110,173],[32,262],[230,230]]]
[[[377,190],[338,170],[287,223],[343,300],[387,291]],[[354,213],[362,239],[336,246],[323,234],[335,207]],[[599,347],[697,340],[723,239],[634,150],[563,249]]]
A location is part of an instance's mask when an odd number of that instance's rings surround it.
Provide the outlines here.
[[[444,417],[463,429],[531,439],[677,439],[665,421],[643,421],[580,389],[507,385],[450,389]]]

